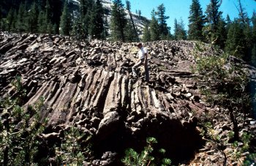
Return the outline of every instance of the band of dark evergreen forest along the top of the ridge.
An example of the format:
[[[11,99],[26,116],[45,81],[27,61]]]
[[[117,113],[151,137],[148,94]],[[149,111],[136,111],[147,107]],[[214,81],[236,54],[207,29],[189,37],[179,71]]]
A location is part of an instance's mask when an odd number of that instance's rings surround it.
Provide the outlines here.
[[[166,23],[169,17],[165,15],[164,4],[152,10],[151,20],[139,33],[132,18],[130,1],[127,0],[125,5],[121,0],[112,2],[109,11],[102,7],[100,0],[80,0],[80,5],[68,0],[2,0],[0,29],[20,34],[61,34],[76,39],[121,42],[197,40],[217,45],[227,53],[256,64],[256,12],[248,15],[240,0],[236,6],[239,15],[233,20],[229,15],[222,15],[220,0],[211,0],[206,11],[202,10],[199,0],[192,0],[188,30],[181,18],[175,19],[173,34]],[[140,10],[137,14],[142,17]],[[107,19],[108,15],[110,19]]]

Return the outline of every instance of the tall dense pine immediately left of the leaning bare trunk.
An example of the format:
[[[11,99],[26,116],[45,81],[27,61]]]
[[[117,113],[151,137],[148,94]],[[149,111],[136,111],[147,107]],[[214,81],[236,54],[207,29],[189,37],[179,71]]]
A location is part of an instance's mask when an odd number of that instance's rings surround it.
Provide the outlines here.
[[[124,12],[124,4],[121,3],[121,0],[114,0],[111,8],[111,38],[115,41],[121,40],[122,42],[125,42],[124,29],[127,25],[127,18],[126,13]]]

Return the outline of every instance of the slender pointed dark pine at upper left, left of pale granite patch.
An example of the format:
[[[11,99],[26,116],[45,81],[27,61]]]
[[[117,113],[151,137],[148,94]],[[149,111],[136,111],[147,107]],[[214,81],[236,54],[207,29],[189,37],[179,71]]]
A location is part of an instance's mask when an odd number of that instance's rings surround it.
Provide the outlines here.
[[[69,36],[71,31],[71,16],[69,13],[67,0],[65,1],[64,7],[62,10],[60,28],[61,28],[60,34]]]

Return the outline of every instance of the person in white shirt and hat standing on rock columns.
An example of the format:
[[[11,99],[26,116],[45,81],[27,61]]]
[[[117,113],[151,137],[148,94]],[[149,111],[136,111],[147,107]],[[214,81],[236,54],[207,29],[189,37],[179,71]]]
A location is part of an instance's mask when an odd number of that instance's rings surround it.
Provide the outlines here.
[[[142,43],[138,43],[136,45],[139,48],[138,51],[138,61],[137,63],[132,67],[132,75],[137,77],[136,69],[140,67],[142,64],[144,64],[145,68],[145,80],[148,82],[149,80],[149,74],[148,74],[148,50],[143,47]]]

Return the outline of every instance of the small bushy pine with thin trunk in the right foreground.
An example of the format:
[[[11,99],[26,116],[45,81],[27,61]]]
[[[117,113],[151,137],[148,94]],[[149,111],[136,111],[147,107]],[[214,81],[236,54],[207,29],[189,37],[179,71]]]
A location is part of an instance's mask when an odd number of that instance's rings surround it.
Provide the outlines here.
[[[197,43],[196,51],[200,51]],[[201,92],[206,96],[206,102],[221,105],[230,113],[230,121],[233,123],[234,139],[238,140],[238,122],[236,115],[252,113],[252,101],[248,91],[248,73],[240,65],[234,63],[236,59],[227,53],[212,56],[197,56],[193,71],[197,73],[197,79],[202,83]]]

